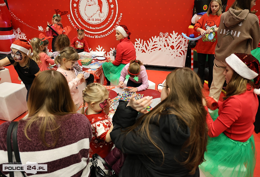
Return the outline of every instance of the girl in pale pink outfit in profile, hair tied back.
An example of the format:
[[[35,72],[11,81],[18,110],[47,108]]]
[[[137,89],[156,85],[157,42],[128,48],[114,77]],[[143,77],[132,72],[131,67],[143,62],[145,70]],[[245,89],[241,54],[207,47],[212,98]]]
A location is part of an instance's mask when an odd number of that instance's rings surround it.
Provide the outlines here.
[[[77,60],[79,60],[79,55],[76,50],[73,47],[65,47],[55,58],[55,64],[61,65],[57,71],[62,73],[67,79],[73,102],[77,108],[79,108],[80,105],[78,104],[80,101],[80,94],[77,86],[82,84],[85,79],[83,74],[78,74],[76,77],[76,74],[72,68]]]

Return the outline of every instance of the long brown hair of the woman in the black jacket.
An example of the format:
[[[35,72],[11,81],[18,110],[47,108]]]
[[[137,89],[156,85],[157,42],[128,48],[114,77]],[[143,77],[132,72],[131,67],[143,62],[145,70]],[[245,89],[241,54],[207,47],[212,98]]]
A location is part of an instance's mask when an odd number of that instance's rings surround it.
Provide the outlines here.
[[[156,144],[149,132],[151,122],[159,122],[162,114],[174,114],[179,122],[179,127],[189,127],[190,137],[181,148],[181,155],[187,158],[181,165],[194,174],[198,165],[204,161],[204,152],[207,144],[207,124],[205,110],[202,99],[202,85],[198,75],[190,68],[181,68],[172,71],[167,75],[165,86],[170,88],[168,96],[161,101],[149,113],[141,116],[136,123],[129,127],[128,131],[133,131],[136,127],[141,136],[147,137],[149,141],[162,153],[163,148]],[[165,108],[170,108],[165,110]],[[162,111],[164,110],[164,111]],[[162,113],[163,112],[163,113]]]

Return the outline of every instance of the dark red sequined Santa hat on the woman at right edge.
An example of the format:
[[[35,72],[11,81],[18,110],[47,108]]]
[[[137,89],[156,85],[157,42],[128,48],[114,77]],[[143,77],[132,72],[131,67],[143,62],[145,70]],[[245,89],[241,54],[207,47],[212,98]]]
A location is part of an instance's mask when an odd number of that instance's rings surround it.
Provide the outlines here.
[[[255,94],[260,94],[260,64],[259,61],[250,54],[245,53],[233,53],[226,58],[226,63],[241,77],[252,80],[256,88]]]

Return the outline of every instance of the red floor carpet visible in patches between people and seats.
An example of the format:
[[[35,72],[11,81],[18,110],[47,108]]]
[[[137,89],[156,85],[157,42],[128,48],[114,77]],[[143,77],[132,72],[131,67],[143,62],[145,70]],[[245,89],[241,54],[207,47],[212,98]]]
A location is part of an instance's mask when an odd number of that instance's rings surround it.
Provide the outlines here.
[[[21,84],[21,81],[18,80],[18,74],[16,73],[14,67],[13,66],[6,66],[6,68],[9,69],[12,83]],[[148,79],[155,83],[155,88],[157,88],[157,85],[162,83],[166,79],[166,76],[170,73],[169,71],[154,71],[154,70],[146,70],[146,72],[147,72],[147,75],[148,75]],[[105,84],[106,84],[106,81],[105,81]],[[204,95],[205,96],[209,95],[209,87],[205,83],[204,83]],[[223,96],[224,96],[224,94],[221,93],[221,95],[220,95],[221,101],[223,101],[223,99],[222,99]],[[20,120],[25,115],[27,115],[27,112],[23,113],[21,116],[16,118],[14,121]],[[5,121],[0,120],[0,124],[3,123],[3,122],[5,122]],[[255,136],[256,150],[260,153],[260,133],[256,134],[254,132],[253,135]],[[257,155],[254,176],[260,177],[260,155]],[[226,176],[226,177],[228,177],[228,176]]]

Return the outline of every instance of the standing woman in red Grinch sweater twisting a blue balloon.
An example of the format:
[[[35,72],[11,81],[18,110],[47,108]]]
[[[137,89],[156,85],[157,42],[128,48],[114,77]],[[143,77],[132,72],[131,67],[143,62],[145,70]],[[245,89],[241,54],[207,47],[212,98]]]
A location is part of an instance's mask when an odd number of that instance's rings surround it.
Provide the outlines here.
[[[197,31],[200,33],[200,35],[205,35],[206,30],[208,29],[214,29],[219,26],[220,23],[220,15],[221,12],[221,0],[212,0],[209,5],[209,9],[207,10],[207,13],[204,14],[198,22],[194,25],[194,31]],[[206,58],[208,56],[208,65],[209,65],[209,79],[208,79],[208,85],[209,88],[212,83],[213,79],[213,66],[214,66],[214,54],[215,54],[215,47],[217,45],[217,33],[213,32],[213,39],[209,40],[208,35],[206,34],[198,41],[198,47],[197,47],[197,54],[198,54],[198,74],[201,79],[202,85],[204,84],[205,76],[204,76],[204,70],[205,70],[205,64],[206,64]]]

